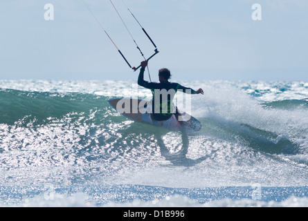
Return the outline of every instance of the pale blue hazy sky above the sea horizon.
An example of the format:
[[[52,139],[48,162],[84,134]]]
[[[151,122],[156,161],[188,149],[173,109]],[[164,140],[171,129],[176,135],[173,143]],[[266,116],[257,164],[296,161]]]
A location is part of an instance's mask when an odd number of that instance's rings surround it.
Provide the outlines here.
[[[143,59],[109,0],[84,0],[132,66]],[[145,57],[154,47],[113,0]],[[54,20],[44,6],[52,3]],[[172,79],[308,81],[306,0],[125,0]],[[262,21],[253,21],[253,3]],[[82,0],[1,0],[0,79],[136,79]],[[147,75],[145,75],[147,76]]]

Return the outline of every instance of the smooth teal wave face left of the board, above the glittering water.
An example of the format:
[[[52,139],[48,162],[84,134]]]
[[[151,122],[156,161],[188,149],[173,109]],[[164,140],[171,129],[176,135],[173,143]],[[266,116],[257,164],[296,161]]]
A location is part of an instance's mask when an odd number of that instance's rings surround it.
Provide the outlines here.
[[[48,124],[68,114],[86,115],[107,106],[106,97],[82,93],[0,90],[0,124]]]

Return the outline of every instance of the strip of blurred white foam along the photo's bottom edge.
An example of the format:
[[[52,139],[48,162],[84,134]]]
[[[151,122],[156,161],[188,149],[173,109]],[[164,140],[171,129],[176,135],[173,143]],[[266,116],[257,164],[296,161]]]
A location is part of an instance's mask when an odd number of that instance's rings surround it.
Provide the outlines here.
[[[1,205],[0,205],[1,206]],[[8,205],[2,205],[8,206]],[[27,198],[20,204],[10,205],[19,207],[307,207],[308,198],[291,196],[281,202],[262,200],[240,199],[213,200],[211,202],[199,203],[188,197],[181,195],[166,196],[163,199],[154,199],[148,202],[135,199],[132,202],[108,202],[105,204],[96,204],[95,200],[89,198],[84,193],[75,193],[73,195],[55,194],[52,198],[44,198],[44,195],[35,198]]]

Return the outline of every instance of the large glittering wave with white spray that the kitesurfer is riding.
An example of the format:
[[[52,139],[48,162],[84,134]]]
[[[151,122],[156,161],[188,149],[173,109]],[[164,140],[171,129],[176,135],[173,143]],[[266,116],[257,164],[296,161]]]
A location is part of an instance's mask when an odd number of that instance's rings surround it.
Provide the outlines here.
[[[107,87],[118,90],[113,84]],[[203,124],[195,133],[126,119],[107,102],[124,97],[123,91],[106,95],[102,88],[89,88],[91,93],[85,88],[1,89],[0,185],[307,184],[305,101],[291,102],[296,108],[264,106],[240,87],[202,84],[205,95],[192,97],[192,115]],[[202,197],[191,199],[200,205]],[[145,201],[141,204],[149,203]]]

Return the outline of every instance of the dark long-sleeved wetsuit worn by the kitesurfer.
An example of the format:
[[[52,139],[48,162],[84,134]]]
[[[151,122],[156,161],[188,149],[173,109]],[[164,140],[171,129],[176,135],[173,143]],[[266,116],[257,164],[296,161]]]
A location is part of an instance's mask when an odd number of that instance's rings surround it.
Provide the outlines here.
[[[154,120],[157,121],[167,120],[174,114],[171,111],[171,106],[172,106],[172,99],[174,98],[174,95],[177,90],[183,90],[183,93],[197,94],[197,91],[192,90],[192,88],[186,88],[178,83],[171,83],[169,81],[163,81],[161,83],[145,81],[143,79],[144,73],[145,73],[145,68],[141,68],[138,77],[138,85],[152,90],[153,99],[152,99],[151,117]],[[163,93],[165,93],[165,95],[163,95]],[[154,104],[154,101],[158,101],[158,99],[159,99],[158,104]]]

